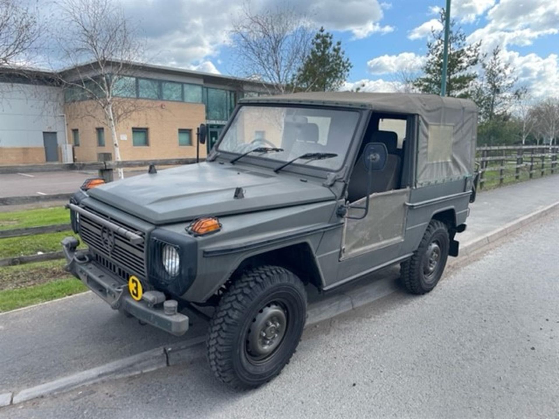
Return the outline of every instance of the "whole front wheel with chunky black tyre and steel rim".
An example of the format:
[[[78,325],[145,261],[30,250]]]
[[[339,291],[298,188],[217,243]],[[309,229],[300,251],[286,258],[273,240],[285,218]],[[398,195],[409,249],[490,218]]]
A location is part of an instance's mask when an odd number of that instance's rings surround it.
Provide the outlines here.
[[[210,368],[235,388],[259,387],[281,373],[301,340],[306,292],[279,266],[243,273],[221,298],[206,340]]]

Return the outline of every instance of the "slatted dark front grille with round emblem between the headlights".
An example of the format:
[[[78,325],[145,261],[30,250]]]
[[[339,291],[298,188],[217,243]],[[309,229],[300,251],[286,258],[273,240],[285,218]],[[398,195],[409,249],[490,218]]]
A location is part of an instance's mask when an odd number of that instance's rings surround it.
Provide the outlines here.
[[[86,215],[80,214],[79,216],[79,235],[82,237],[82,240],[93,249],[94,254],[105,258],[107,263],[114,264],[117,268],[121,268],[122,272],[146,278],[145,234],[136,230],[134,227],[114,220],[113,218],[98,211],[94,211],[91,208],[87,208],[87,211],[93,212],[95,215],[106,218],[112,223],[124,227],[126,230],[134,231],[136,234],[144,237],[144,241],[141,244],[133,244],[126,237],[114,232],[115,245],[111,250],[103,244],[103,238],[101,236],[103,226],[97,221],[88,218]],[[115,272],[113,268],[109,268],[108,266],[105,266],[105,268]],[[118,272],[115,273],[121,276]]]

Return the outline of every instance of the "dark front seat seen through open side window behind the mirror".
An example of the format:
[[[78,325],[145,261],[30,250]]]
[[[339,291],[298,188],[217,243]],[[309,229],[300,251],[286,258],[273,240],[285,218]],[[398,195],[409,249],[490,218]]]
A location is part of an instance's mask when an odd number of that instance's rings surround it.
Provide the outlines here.
[[[386,145],[388,156],[385,168],[372,173],[371,193],[391,191],[399,187],[402,159],[398,155],[398,136],[392,131],[373,132],[369,141],[363,141],[358,160],[349,178],[348,199],[355,202],[367,195],[368,170],[363,161],[363,150],[369,142],[382,142]]]

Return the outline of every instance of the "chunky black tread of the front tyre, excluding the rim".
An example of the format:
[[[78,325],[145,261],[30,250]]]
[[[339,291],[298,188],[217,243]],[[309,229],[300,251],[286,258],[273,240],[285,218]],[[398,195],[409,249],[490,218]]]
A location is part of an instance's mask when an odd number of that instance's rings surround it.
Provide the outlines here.
[[[238,389],[258,387],[257,385],[247,385],[236,377],[233,370],[231,342],[233,341],[235,329],[240,327],[250,302],[269,286],[276,283],[290,283],[294,287],[299,288],[302,296],[304,296],[306,307],[306,291],[301,280],[289,270],[271,265],[259,266],[258,268],[245,271],[221,298],[214,316],[210,320],[206,338],[208,363],[221,382]],[[283,366],[289,363],[293,353]],[[269,377],[266,382],[280,375],[283,366],[273,377]]]

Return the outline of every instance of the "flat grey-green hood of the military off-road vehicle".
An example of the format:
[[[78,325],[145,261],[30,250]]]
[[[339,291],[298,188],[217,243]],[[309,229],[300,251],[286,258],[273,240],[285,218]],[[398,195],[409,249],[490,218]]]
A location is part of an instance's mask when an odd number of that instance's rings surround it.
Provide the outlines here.
[[[244,197],[234,197],[236,188],[243,188]],[[155,225],[335,199],[320,184],[217,162],[146,173],[107,183],[88,194]]]

